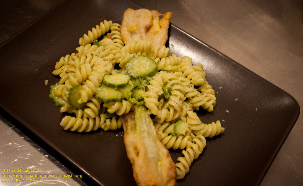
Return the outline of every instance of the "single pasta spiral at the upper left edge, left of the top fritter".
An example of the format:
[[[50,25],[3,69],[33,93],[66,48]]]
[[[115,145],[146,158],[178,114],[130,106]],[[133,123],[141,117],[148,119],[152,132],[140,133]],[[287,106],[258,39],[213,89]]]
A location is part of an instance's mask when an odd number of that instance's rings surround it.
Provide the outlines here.
[[[100,22],[99,25],[93,27],[92,30],[88,30],[88,33],[84,34],[83,37],[79,39],[79,45],[87,45],[88,43],[92,43],[94,39],[97,39],[108,32],[112,25],[112,21],[104,20],[103,22]]]

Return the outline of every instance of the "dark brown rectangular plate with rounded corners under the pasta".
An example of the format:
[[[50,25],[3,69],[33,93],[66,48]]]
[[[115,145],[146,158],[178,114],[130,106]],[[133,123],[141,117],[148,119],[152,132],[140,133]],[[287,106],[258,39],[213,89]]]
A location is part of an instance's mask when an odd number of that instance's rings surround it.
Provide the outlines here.
[[[78,39],[100,21],[121,22],[129,7],[141,8],[123,0],[67,0],[0,46],[0,106],[105,186],[135,185],[123,130],[64,131],[59,125],[63,114],[48,94],[59,80],[52,71],[60,57],[76,52]],[[207,141],[179,185],[260,184],[298,119],[297,101],[172,24],[167,46],[171,53],[204,65],[206,79],[217,92],[217,105],[213,112],[198,114],[202,122],[220,120],[225,127],[223,134]],[[171,152],[174,160],[180,154]]]

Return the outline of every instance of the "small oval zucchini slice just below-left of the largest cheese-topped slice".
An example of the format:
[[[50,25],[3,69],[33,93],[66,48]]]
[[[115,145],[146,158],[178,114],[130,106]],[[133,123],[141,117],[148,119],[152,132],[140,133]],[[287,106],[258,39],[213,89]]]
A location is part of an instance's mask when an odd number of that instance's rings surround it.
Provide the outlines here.
[[[130,77],[127,74],[105,75],[103,84],[111,88],[123,88],[128,85],[129,80]]]

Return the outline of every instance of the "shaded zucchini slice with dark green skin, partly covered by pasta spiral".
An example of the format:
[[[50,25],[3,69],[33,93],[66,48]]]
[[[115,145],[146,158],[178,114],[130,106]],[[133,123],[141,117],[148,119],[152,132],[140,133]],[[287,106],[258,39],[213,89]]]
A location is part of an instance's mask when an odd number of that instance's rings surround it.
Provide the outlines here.
[[[81,103],[81,104],[78,103],[78,100],[81,98],[80,91],[82,89],[83,88],[81,85],[75,85],[68,92],[68,97],[67,97],[68,103],[72,105],[72,107],[75,109],[83,109],[86,107],[86,103]]]

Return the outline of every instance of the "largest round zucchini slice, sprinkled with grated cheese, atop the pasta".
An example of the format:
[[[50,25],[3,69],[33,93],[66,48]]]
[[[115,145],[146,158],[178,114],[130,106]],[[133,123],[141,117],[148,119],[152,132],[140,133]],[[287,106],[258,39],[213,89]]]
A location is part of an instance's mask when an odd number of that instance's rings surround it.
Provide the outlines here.
[[[156,62],[148,56],[134,55],[126,63],[128,74],[134,78],[153,76],[158,72]]]

